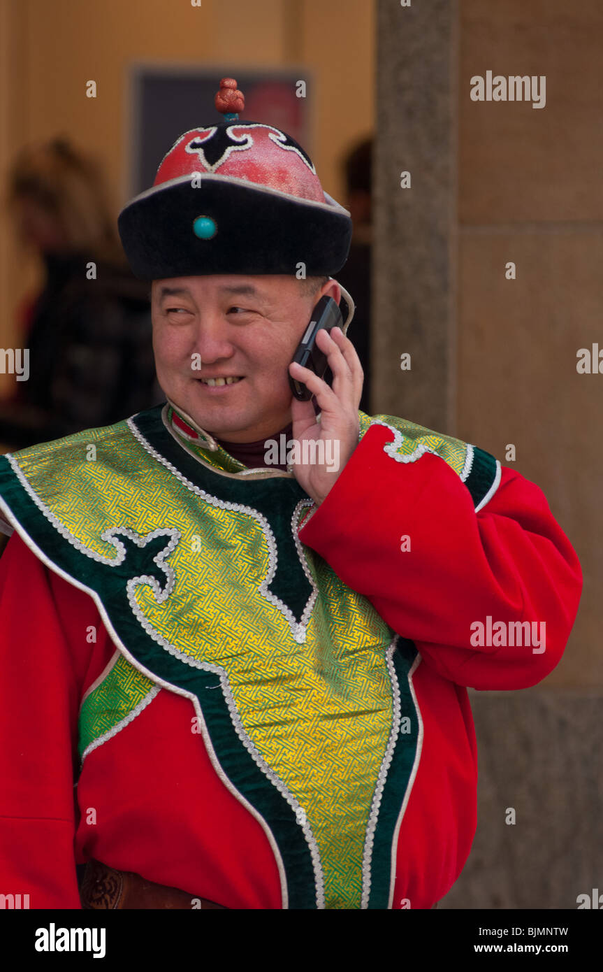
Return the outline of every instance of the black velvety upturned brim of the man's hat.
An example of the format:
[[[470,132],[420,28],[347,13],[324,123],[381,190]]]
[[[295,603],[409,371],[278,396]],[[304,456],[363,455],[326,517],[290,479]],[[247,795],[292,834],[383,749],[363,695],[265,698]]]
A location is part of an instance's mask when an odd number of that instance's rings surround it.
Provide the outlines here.
[[[262,187],[245,179],[180,176],[142,192],[122,209],[119,235],[132,272],[141,280],[204,274],[332,276],[348,259],[349,212],[325,193],[324,203]],[[214,220],[210,239],[193,223]]]

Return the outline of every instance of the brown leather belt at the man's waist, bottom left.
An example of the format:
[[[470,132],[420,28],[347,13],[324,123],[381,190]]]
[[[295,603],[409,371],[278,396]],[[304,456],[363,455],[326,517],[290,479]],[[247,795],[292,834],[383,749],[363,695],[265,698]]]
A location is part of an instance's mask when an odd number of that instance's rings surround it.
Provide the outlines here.
[[[133,871],[116,871],[98,860],[90,860],[85,866],[84,880],[80,887],[82,907],[91,909],[112,908],[224,908],[215,901],[200,898],[181,891],[178,887],[154,885]],[[227,911],[227,909],[224,909]]]

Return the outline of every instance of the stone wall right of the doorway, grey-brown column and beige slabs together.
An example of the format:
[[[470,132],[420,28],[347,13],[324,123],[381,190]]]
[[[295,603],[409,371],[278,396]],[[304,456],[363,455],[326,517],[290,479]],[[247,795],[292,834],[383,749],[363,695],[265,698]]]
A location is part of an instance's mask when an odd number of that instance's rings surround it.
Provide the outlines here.
[[[545,683],[588,690],[603,688],[603,375],[576,365],[603,350],[602,47],[599,0],[378,5],[372,411],[540,486],[585,575]],[[472,100],[487,71],[545,76],[544,107]]]

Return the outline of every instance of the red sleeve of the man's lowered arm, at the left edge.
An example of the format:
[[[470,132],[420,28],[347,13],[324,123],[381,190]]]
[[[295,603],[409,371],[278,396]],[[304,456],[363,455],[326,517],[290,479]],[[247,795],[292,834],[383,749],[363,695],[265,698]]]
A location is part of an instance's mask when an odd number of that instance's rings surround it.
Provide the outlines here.
[[[86,642],[98,624],[96,642]],[[14,533],[0,558],[0,893],[80,908],[74,771],[84,686],[106,660],[90,598]],[[21,899],[23,900],[23,899]]]

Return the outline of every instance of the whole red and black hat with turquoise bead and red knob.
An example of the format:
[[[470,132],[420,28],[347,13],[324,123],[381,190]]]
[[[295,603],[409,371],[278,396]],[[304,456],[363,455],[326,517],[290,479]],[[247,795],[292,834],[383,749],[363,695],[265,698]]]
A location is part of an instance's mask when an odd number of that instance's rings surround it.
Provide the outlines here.
[[[331,276],[348,259],[352,219],[322,190],[312,159],[274,125],[239,121],[245,98],[220,81],[224,121],[184,132],[150,190],[117,226],[142,280],[202,274]]]

